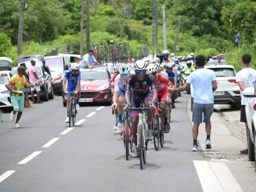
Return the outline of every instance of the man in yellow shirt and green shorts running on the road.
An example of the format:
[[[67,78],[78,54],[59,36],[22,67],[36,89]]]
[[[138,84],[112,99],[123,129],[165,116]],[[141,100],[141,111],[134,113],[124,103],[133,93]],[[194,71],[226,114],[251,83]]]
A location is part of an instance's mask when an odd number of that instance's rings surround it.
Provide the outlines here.
[[[13,111],[11,112],[10,119],[11,121],[14,121],[15,114],[18,112],[14,127],[20,128],[18,121],[20,117],[22,117],[22,112],[24,109],[24,88],[33,88],[35,86],[38,86],[38,84],[28,84],[28,82],[26,81],[26,77],[24,76],[26,69],[23,66],[19,66],[17,71],[18,73],[11,77],[5,87],[11,92],[10,96]]]

